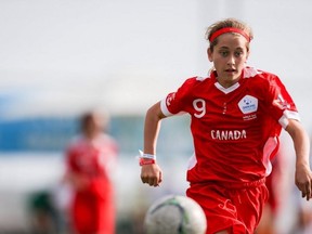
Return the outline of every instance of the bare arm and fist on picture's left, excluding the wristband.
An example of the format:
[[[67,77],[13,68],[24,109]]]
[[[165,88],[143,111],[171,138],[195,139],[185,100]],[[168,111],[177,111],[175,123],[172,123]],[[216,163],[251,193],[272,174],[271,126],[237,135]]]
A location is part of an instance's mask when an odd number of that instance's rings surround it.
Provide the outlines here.
[[[161,119],[166,118],[160,108],[160,102],[148,108],[144,123],[144,154],[156,155],[156,145]],[[156,164],[143,165],[141,180],[151,186],[158,186],[162,180],[161,169]]]

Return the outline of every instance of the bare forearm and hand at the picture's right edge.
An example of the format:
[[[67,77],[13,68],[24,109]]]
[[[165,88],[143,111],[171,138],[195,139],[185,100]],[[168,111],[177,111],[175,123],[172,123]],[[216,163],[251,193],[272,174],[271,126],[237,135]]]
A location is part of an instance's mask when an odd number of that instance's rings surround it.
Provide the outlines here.
[[[302,125],[295,119],[289,119],[285,129],[292,139],[296,152],[295,183],[307,200],[312,198],[312,172],[310,168],[309,154],[310,141]]]

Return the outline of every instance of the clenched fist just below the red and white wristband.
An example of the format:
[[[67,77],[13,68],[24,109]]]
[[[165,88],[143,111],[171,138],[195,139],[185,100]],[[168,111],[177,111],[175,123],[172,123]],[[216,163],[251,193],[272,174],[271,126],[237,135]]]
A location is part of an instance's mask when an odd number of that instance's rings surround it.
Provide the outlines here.
[[[161,169],[157,164],[143,165],[141,168],[141,180],[150,186],[159,186],[162,181]]]

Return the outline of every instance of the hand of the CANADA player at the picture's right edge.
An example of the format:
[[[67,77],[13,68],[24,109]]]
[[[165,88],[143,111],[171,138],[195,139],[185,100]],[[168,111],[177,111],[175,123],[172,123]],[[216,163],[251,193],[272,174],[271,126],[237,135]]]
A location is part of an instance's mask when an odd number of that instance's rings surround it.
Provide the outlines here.
[[[300,166],[296,168],[296,185],[301,191],[302,197],[307,200],[312,198],[312,172],[309,167]]]

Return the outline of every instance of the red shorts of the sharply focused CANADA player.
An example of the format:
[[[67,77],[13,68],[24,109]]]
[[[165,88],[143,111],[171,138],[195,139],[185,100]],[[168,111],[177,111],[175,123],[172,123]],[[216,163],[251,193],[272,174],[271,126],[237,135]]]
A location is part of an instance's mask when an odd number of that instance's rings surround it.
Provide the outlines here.
[[[206,234],[223,230],[253,234],[269,196],[264,179],[239,184],[239,187],[233,184],[191,184],[186,195],[203,207],[208,226]]]

